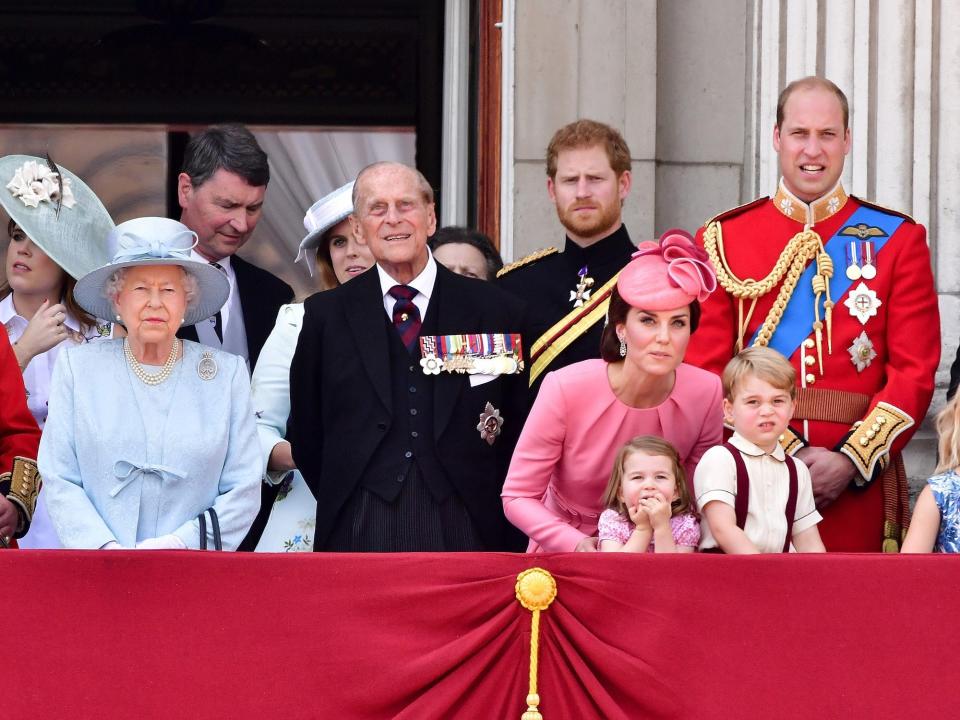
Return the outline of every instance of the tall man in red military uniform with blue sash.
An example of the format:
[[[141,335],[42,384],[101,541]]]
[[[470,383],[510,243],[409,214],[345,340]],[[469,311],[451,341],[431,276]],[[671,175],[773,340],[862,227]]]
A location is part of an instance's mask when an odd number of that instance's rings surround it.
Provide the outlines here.
[[[909,518],[900,452],[933,394],[940,318],[923,226],[840,184],[848,121],[829,80],[781,93],[776,194],[697,235],[722,291],[686,358],[719,373],[750,345],[786,356],[800,387],[782,442],[810,468],[824,544],[896,552]]]

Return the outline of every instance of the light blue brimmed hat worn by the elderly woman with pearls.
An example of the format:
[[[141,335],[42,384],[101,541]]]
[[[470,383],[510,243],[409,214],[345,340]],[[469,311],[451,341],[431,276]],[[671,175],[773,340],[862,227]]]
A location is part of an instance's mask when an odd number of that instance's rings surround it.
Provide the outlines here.
[[[94,317],[111,318],[116,310],[104,294],[117,270],[140,265],[179,265],[197,279],[197,297],[187,307],[184,325],[194,325],[215,314],[230,295],[230,281],[213,265],[190,259],[197,234],[169,218],[135,218],[120,223],[107,238],[113,260],[77,281],[73,295]]]

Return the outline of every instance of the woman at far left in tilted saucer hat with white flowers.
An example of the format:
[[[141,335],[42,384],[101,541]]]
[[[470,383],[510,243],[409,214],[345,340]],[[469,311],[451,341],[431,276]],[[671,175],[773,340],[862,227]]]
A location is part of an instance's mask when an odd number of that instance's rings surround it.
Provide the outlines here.
[[[27,406],[42,429],[60,351],[112,333],[109,322],[77,305],[73,286],[109,260],[106,237],[113,221],[79,177],[42,158],[0,158],[0,184],[0,205],[10,216],[5,247],[0,241],[6,261],[0,322],[23,374]],[[60,547],[42,491],[20,547]]]

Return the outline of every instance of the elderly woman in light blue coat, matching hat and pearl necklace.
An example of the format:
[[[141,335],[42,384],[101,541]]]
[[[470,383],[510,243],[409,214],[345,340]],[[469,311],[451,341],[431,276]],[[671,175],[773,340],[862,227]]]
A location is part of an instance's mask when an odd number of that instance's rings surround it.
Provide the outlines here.
[[[112,262],[75,295],[127,337],[69,348],[54,369],[38,456],[50,517],[68,548],[198,548],[219,535],[235,549],[259,507],[246,364],[176,337],[223,305],[227,278],[190,259],[196,235],[175,220],[127,221],[108,244]]]

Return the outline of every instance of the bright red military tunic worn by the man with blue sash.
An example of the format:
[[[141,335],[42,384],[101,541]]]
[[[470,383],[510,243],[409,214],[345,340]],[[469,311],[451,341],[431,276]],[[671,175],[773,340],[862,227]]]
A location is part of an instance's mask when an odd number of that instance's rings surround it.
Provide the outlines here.
[[[801,215],[796,207],[799,201],[791,198],[794,206],[791,208],[786,203],[784,211],[781,211],[778,204],[784,195],[781,189],[776,203],[773,199],[763,198],[717,218],[722,229],[724,256],[736,277],[755,280],[766,277],[789,240],[803,230],[803,222],[798,221],[797,217],[806,215],[807,206],[802,206]],[[831,200],[829,205],[824,202],[828,199]],[[846,196],[838,186],[830,195],[816,201],[810,210],[811,214],[806,217],[814,219],[812,229],[826,244],[862,204],[862,201]],[[795,217],[785,214],[791,211]],[[701,229],[697,234],[697,242],[701,245],[704,230]],[[816,363],[813,366],[802,364],[800,349],[789,358],[797,371],[798,384],[867,395],[870,398],[870,410],[864,413],[864,417],[870,414],[877,403],[884,402],[912,420],[912,424],[905,421],[900,434],[878,449],[876,457],[880,462],[869,466],[874,472],[873,477],[866,478],[868,480],[876,478],[880,467],[900,453],[923,419],[930,405],[934,374],[940,362],[937,295],[923,226],[905,218],[879,251],[875,265],[876,277],[858,279],[851,283],[850,289],[842,297],[832,298],[835,303],[833,352],[828,353],[824,331],[823,373],[819,372]],[[836,273],[844,273],[845,270],[843,266],[835,267]],[[850,291],[861,282],[873,290],[880,301],[879,307],[875,308],[876,315],[869,317],[865,323],[861,323],[844,305]],[[754,332],[763,323],[779,289],[780,284],[777,284],[759,298],[747,326],[745,345],[750,343]],[[744,312],[749,305],[749,300],[745,300]],[[812,326],[813,313],[811,304],[810,324],[805,327]],[[716,373],[722,372],[734,354],[737,318],[738,300],[718,288],[703,304],[700,326],[692,336],[686,361]],[[858,370],[848,349],[861,333],[866,333],[876,357]],[[809,337],[815,337],[812,330]],[[805,353],[816,357],[815,348],[806,349]],[[876,415],[871,416],[868,422],[875,423],[875,418]],[[824,420],[808,420],[807,423],[805,437],[809,444],[834,450],[842,448],[853,429],[849,423]],[[795,418],[791,427],[804,436],[802,420]],[[873,424],[873,427],[877,426]],[[856,440],[859,443],[860,438]],[[872,440],[864,442],[872,443]],[[828,550],[880,549],[884,531],[883,493],[880,486],[880,482],[873,482],[866,490],[848,488],[836,502],[822,509],[824,520],[820,525],[820,533]]]

